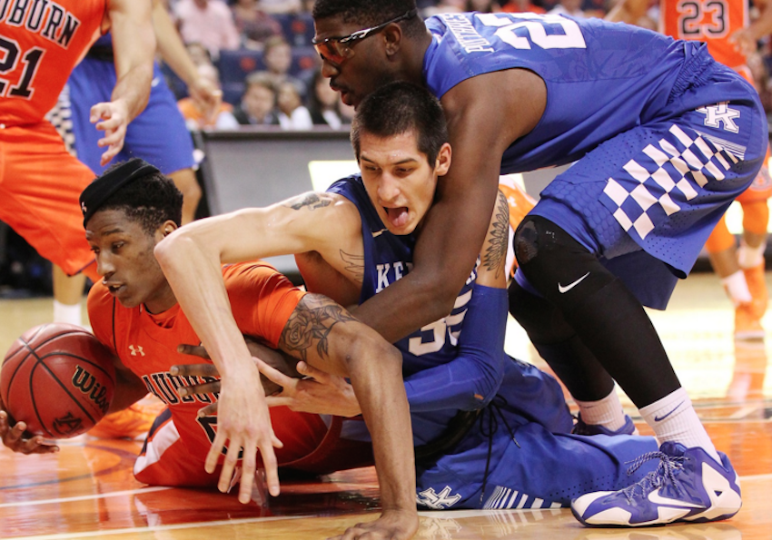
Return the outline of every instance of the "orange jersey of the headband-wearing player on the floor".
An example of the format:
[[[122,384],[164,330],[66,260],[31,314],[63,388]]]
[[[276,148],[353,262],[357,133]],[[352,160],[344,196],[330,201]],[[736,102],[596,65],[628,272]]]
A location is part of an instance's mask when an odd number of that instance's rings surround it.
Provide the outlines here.
[[[287,319],[305,293],[262,262],[226,266],[223,278],[239,329],[262,339],[270,347],[277,347]],[[113,349],[121,363],[144,381],[148,391],[169,407],[188,450],[205,457],[214,438],[216,417],[197,417],[197,411],[217,396],[182,397],[178,388],[204,380],[169,373],[175,364],[205,361],[177,352],[181,343],[201,342],[179,304],[157,315],[148,313],[143,306],[124,308],[102,283],[96,283],[88,295],[88,317],[94,336]],[[296,426],[288,426],[282,432],[285,445],[276,450],[280,463],[307,456],[316,448],[316,441],[292,440],[293,432],[302,437],[306,432],[302,423],[306,420],[311,423],[316,415],[295,413],[294,416]]]

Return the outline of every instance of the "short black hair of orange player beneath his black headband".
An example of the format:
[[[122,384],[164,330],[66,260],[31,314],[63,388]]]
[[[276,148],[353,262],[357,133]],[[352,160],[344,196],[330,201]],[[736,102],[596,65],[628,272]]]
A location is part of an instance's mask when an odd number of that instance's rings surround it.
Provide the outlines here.
[[[104,174],[120,167],[115,163]],[[104,176],[104,175],[103,175]],[[121,210],[137,221],[145,232],[153,234],[164,221],[179,227],[183,221],[183,193],[171,178],[152,172],[124,185],[99,206],[98,211]]]

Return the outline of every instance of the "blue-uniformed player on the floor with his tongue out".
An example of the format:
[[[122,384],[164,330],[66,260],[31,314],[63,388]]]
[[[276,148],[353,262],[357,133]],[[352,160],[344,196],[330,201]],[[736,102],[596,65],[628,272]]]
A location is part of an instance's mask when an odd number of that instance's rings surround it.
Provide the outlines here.
[[[351,140],[361,176],[336,182],[326,193],[196,221],[159,243],[156,254],[163,252],[173,287],[203,280],[191,268],[294,253],[309,290],[348,306],[409,272],[413,233],[450,166],[440,104],[411,84],[384,87],[361,103]],[[570,435],[558,383],[504,354],[507,228],[507,202],[500,196],[480,262],[455,309],[396,343],[411,405],[421,506],[568,506],[588,491],[628,486],[653,468],[647,463],[628,475],[624,462],[656,450],[654,438]],[[215,290],[222,284],[203,280],[197,286]],[[192,306],[198,313],[206,303]],[[208,320],[216,328],[232,324]],[[357,412],[340,379],[322,377],[314,384],[262,371],[286,387],[269,400],[316,412]]]

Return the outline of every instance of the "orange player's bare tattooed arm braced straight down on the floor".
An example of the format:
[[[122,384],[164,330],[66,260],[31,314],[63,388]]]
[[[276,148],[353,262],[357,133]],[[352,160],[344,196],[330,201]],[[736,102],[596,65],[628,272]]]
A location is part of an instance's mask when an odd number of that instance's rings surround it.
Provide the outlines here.
[[[411,538],[418,529],[415,459],[399,350],[318,294],[307,294],[298,303],[279,347],[314,368],[350,378],[370,430],[383,513],[341,538]]]

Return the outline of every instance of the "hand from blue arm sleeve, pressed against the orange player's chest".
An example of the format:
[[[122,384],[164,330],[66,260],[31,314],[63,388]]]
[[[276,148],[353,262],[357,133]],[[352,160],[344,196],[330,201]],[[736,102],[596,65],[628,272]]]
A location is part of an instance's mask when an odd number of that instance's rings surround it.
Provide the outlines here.
[[[320,369],[298,362],[297,370],[305,378],[284,375],[277,369],[257,361],[262,375],[282,387],[282,393],[266,398],[268,407],[287,406],[293,411],[336,417],[361,415],[354,389],[345,378],[330,375]]]

